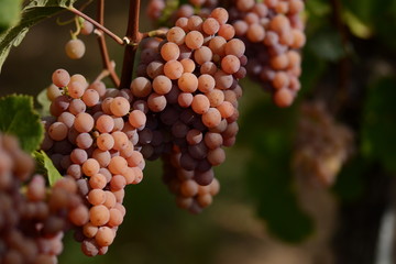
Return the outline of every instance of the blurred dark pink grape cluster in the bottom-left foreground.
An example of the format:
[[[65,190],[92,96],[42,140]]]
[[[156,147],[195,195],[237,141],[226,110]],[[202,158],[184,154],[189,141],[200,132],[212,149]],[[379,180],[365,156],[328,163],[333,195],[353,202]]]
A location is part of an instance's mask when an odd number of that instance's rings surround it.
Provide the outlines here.
[[[65,177],[47,191],[44,177],[33,170],[18,141],[0,134],[0,263],[57,263],[68,218],[87,210],[75,180]]]

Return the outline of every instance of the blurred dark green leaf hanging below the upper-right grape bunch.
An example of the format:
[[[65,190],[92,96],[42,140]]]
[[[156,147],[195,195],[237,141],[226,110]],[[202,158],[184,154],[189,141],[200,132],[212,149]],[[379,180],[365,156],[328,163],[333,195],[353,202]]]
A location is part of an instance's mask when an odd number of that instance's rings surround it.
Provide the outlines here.
[[[249,194],[257,204],[257,215],[271,233],[287,242],[300,242],[314,232],[312,219],[299,208],[293,188],[295,110],[257,101],[241,119],[239,138],[240,143],[253,151],[246,180]]]

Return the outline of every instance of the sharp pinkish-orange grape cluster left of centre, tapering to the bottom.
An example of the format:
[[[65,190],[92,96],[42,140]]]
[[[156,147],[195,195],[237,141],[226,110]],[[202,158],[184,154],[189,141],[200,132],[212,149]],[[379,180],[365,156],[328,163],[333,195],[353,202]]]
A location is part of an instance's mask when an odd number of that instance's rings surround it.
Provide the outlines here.
[[[75,179],[88,210],[72,219],[76,239],[87,255],[105,254],[113,242],[125,209],[124,187],[143,178],[145,161],[134,144],[145,114],[131,111],[129,89],[106,89],[102,81],[88,85],[81,75],[54,72],[51,113],[44,119],[42,148],[63,175]]]

